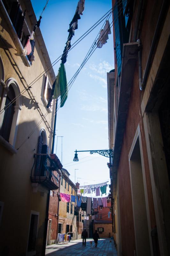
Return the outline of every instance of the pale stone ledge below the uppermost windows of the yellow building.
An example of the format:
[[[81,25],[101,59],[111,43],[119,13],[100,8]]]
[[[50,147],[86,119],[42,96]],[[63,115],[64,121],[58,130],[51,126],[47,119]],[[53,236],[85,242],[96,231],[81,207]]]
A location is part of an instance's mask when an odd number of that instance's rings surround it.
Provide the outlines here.
[[[5,18],[5,20],[6,20],[6,23],[9,25],[9,28],[10,28],[10,30],[11,30],[11,32],[12,32],[12,36],[14,37],[14,43],[15,43],[16,47],[17,47],[18,50],[19,50],[20,56],[21,56],[21,58],[22,58],[24,64],[25,64],[27,67],[31,67],[31,64],[30,64],[30,61],[28,60],[28,57],[21,55],[22,51],[24,50],[24,47],[23,47],[23,45],[21,44],[21,41],[19,40],[19,37],[18,37],[18,35],[17,35],[17,32],[16,32],[16,30],[15,30],[15,28],[14,28],[12,22],[11,22],[10,16],[8,15],[8,12],[6,11],[5,6],[4,6],[2,0],[0,0],[0,5],[2,6],[1,10],[2,10],[2,12],[3,12],[3,14],[4,14],[4,18]]]

